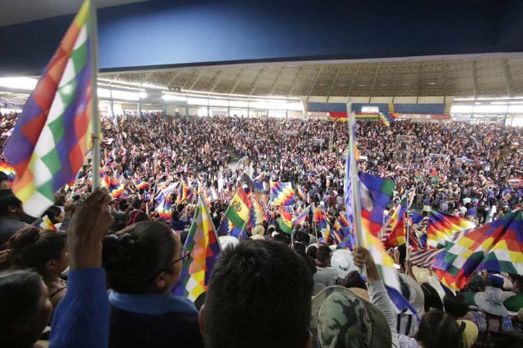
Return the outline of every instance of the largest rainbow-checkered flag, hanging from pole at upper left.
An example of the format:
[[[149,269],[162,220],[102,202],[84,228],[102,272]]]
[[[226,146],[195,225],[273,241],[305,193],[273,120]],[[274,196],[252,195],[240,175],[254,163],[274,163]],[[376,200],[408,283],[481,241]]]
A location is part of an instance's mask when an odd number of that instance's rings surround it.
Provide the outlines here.
[[[18,174],[13,192],[32,216],[55,201],[91,146],[89,0],[67,30],[18,117],[4,153]]]

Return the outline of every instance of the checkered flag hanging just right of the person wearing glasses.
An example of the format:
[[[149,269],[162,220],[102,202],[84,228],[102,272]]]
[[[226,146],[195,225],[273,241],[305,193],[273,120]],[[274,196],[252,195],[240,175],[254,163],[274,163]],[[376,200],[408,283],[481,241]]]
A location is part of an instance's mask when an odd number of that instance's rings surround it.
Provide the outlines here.
[[[194,302],[207,291],[210,275],[222,250],[203,198],[196,205],[184,248],[189,252],[189,260],[183,263],[182,274],[173,288],[173,294],[185,296]]]

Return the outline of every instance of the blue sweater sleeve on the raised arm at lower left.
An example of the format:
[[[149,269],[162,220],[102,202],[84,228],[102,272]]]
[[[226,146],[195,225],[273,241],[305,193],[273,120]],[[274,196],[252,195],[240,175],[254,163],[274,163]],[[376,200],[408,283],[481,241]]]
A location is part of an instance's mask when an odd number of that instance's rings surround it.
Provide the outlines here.
[[[66,296],[52,318],[50,348],[105,348],[109,300],[102,268],[71,270]]]

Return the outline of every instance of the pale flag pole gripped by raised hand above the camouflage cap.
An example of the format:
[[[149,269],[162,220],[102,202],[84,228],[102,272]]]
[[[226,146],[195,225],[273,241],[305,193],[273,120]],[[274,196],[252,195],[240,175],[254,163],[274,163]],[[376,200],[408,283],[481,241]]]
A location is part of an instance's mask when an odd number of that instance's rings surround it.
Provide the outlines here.
[[[363,230],[361,224],[361,197],[359,192],[359,170],[356,160],[356,139],[354,125],[356,124],[356,117],[352,113],[352,101],[347,99],[347,123],[349,126],[349,152],[350,152],[350,186],[352,187],[352,210],[354,211],[354,230],[356,234],[356,245],[363,247]]]

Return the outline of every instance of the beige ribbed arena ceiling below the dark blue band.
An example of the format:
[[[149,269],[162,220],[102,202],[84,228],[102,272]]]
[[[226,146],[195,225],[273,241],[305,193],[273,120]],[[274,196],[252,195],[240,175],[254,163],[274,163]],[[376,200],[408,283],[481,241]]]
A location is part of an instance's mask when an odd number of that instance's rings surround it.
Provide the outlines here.
[[[103,73],[122,82],[284,96],[521,96],[523,59],[256,64]]]

